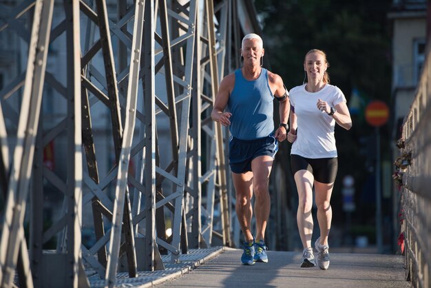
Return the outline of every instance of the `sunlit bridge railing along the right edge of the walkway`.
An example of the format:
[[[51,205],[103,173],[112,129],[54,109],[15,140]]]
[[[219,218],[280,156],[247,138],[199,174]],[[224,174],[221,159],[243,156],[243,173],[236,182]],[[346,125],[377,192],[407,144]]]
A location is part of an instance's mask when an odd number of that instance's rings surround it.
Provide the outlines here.
[[[406,277],[414,287],[431,287],[431,57],[430,46],[410,112],[397,145],[400,156],[401,234]],[[402,247],[402,246],[401,246]]]

